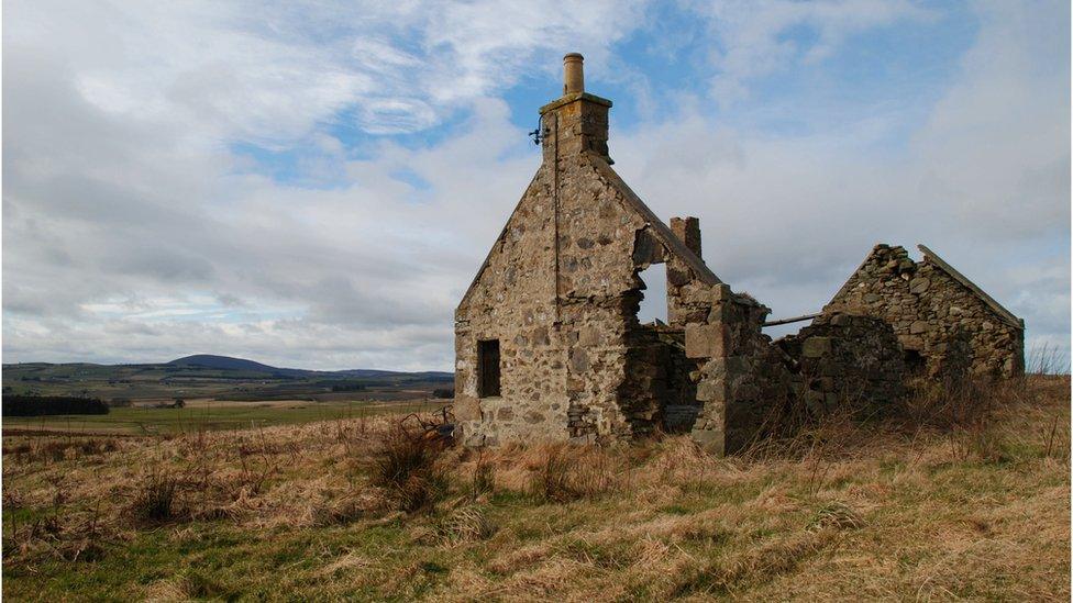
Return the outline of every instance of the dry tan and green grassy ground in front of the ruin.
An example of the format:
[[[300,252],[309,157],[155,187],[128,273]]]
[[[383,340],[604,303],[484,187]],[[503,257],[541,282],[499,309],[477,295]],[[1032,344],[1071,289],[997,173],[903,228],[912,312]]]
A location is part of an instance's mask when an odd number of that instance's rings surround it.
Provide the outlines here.
[[[723,459],[683,436],[465,450],[386,416],[5,434],[3,594],[1068,600],[1069,377],[925,401],[953,410]]]

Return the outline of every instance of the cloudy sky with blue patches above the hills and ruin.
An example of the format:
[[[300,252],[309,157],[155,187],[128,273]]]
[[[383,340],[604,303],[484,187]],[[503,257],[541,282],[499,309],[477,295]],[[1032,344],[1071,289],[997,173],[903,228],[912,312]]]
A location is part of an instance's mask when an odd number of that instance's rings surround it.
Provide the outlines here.
[[[923,243],[1069,358],[1068,1],[3,9],[4,362],[451,370],[568,52],[773,317]]]

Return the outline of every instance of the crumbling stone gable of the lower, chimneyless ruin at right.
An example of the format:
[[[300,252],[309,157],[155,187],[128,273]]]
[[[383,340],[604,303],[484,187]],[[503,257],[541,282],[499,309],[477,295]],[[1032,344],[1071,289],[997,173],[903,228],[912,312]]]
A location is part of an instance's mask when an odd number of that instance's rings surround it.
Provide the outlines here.
[[[903,247],[876,245],[825,308],[885,320],[931,377],[969,365],[973,375],[1024,373],[1024,327],[1002,316],[947,269]],[[971,355],[965,360],[964,342]]]

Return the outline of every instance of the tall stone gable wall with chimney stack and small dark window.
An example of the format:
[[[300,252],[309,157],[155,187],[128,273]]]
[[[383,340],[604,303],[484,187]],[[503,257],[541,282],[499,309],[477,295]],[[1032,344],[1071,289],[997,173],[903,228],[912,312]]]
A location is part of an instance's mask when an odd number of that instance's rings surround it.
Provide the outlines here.
[[[682,330],[637,320],[638,273],[682,244],[610,170],[607,108],[575,101],[545,115],[544,163],[456,312],[455,416],[471,445],[635,438],[668,402],[695,401]],[[500,342],[497,398],[477,387],[483,339]]]

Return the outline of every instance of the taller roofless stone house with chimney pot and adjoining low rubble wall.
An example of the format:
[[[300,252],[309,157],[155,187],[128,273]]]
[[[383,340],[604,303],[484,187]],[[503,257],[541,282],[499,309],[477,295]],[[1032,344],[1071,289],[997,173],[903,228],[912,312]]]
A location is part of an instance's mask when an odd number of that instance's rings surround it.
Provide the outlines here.
[[[467,445],[664,431],[729,453],[799,391],[818,411],[851,387],[899,394],[904,355],[885,316],[832,302],[773,344],[770,310],[701,259],[697,219],[667,226],[611,168],[611,101],[585,92],[580,55],[564,63],[563,96],[540,109],[543,161],[455,313]],[[666,265],[667,324],[638,320],[653,264]]]

